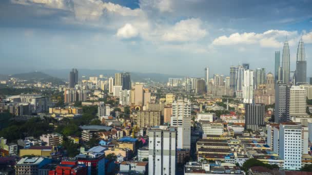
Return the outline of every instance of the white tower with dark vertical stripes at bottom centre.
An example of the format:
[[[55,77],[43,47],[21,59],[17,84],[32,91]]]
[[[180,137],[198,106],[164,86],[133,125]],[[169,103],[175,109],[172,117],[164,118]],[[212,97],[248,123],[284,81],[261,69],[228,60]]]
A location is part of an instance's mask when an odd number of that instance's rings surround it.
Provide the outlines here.
[[[177,130],[174,127],[148,130],[148,174],[175,174]]]

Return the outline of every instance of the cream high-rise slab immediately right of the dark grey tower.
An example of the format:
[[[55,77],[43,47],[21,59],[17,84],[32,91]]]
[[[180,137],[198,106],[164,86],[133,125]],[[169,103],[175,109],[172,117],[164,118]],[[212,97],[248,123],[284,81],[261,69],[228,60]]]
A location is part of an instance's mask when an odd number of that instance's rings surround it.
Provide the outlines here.
[[[306,114],[306,90],[291,86],[289,94],[289,114]]]

